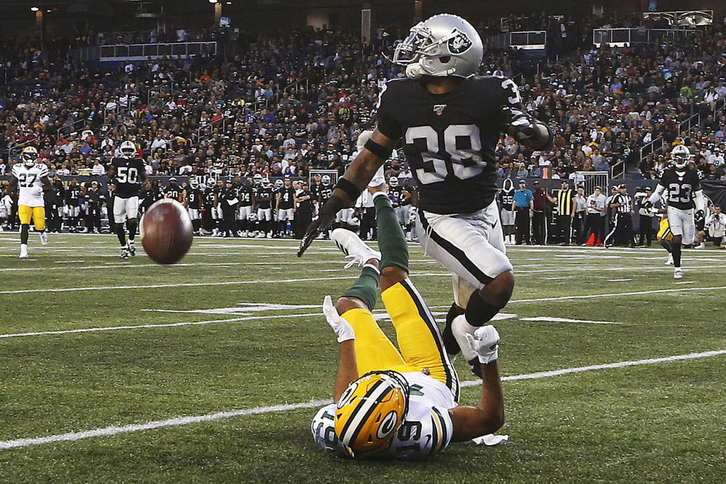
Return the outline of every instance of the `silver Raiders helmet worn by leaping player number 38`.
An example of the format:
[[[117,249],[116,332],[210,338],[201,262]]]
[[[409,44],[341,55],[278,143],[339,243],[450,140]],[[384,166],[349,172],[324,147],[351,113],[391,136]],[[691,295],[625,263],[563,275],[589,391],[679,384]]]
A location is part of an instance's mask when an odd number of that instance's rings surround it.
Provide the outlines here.
[[[406,67],[406,75],[471,77],[481,65],[484,46],[476,28],[458,15],[429,17],[411,28],[411,33],[393,52],[393,63]]]

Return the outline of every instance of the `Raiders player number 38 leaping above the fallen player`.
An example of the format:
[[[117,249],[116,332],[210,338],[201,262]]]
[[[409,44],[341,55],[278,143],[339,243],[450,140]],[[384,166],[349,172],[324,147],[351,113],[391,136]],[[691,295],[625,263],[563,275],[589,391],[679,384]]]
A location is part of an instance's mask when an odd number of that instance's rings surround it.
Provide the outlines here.
[[[449,353],[466,344],[464,332],[473,334],[504,308],[514,288],[494,201],[499,135],[506,131],[531,149],[552,144],[549,126],[523,111],[511,79],[475,75],[483,52],[476,29],[456,15],[434,15],[411,29],[393,53],[407,78],[391,79],[380,92],[378,127],[298,251],[301,255],[335,213],[356,200],[403,139],[420,188],[419,242],[454,274],[455,303],[444,329]]]

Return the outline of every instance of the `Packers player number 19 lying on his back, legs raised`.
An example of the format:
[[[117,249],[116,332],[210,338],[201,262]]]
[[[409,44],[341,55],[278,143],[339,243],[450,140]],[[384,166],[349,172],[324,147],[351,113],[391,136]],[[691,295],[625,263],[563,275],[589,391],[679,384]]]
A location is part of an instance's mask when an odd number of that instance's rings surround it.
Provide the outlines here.
[[[380,253],[356,234],[335,229],[331,239],[363,265],[361,276],[323,312],[340,343],[333,401],[317,412],[311,430],[326,451],[359,458],[425,458],[451,442],[494,432],[504,424],[499,381],[499,334],[492,325],[466,332],[454,325],[467,361],[478,358],[484,389],[480,406],[457,406],[459,381],[431,311],[408,278],[408,247],[386,185],[369,188],[378,218]],[[376,323],[381,298],[391,316],[397,350]]]

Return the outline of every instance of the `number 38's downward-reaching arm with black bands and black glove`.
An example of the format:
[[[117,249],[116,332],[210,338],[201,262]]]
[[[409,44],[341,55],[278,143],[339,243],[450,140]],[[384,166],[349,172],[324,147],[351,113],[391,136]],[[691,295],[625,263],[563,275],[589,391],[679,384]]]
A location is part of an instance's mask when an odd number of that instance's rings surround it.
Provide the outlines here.
[[[348,166],[346,173],[335,185],[333,195],[320,208],[318,218],[305,231],[298,250],[301,257],[313,240],[335,220],[335,214],[343,208],[353,206],[359,195],[378,171],[380,165],[391,154],[396,140],[388,138],[376,128],[356,159]]]

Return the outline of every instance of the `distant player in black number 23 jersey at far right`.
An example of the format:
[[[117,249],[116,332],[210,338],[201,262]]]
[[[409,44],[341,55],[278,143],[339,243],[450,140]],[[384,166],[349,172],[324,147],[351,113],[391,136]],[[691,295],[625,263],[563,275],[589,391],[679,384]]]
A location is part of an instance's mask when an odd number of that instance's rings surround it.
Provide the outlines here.
[[[703,199],[701,181],[698,173],[690,168],[690,151],[678,144],[671,151],[673,167],[667,168],[658,181],[656,191],[650,195],[648,206],[661,200],[668,204],[668,224],[673,238],[671,248],[673,255],[673,278],[682,279],[681,249],[682,245],[693,245],[696,235],[696,218],[703,219],[706,214],[706,201]],[[693,213],[693,208],[696,213]]]

